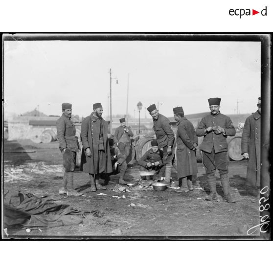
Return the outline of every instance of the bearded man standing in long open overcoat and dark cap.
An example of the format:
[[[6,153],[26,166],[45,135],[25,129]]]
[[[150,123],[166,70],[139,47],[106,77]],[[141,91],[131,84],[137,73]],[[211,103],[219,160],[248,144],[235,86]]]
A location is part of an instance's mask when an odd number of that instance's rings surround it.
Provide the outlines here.
[[[93,104],[93,112],[82,122],[81,139],[83,144],[81,169],[89,173],[91,191],[107,189],[99,183],[99,178],[108,182],[112,173],[111,152],[108,142],[108,122],[101,116],[100,103]]]

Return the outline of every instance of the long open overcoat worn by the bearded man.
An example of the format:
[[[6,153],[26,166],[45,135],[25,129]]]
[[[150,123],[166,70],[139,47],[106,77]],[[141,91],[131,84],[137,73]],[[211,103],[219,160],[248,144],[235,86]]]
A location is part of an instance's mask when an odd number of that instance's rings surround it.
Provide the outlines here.
[[[102,124],[102,132],[100,130],[101,124]],[[101,166],[104,166],[103,172],[111,173],[113,171],[107,132],[108,132],[108,122],[105,121],[103,118],[99,119],[93,116],[93,114],[91,113],[91,115],[87,116],[83,120],[82,128],[81,128],[81,139],[83,144],[81,169],[84,172],[97,174],[98,163]],[[100,147],[104,148],[104,152],[103,153],[100,152],[100,155],[102,153],[100,158],[99,158],[99,144],[100,144]],[[87,148],[90,148],[91,150],[91,157],[88,157],[86,155]]]

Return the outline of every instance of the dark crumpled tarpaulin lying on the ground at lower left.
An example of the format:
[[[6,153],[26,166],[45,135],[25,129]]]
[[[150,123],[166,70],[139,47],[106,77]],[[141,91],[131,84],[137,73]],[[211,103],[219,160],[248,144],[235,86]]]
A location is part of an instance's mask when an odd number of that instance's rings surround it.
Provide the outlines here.
[[[102,217],[99,210],[89,211],[93,216]],[[23,225],[28,228],[54,228],[63,225],[78,225],[83,214],[70,205],[43,200],[31,193],[8,190],[4,193],[4,227]]]

